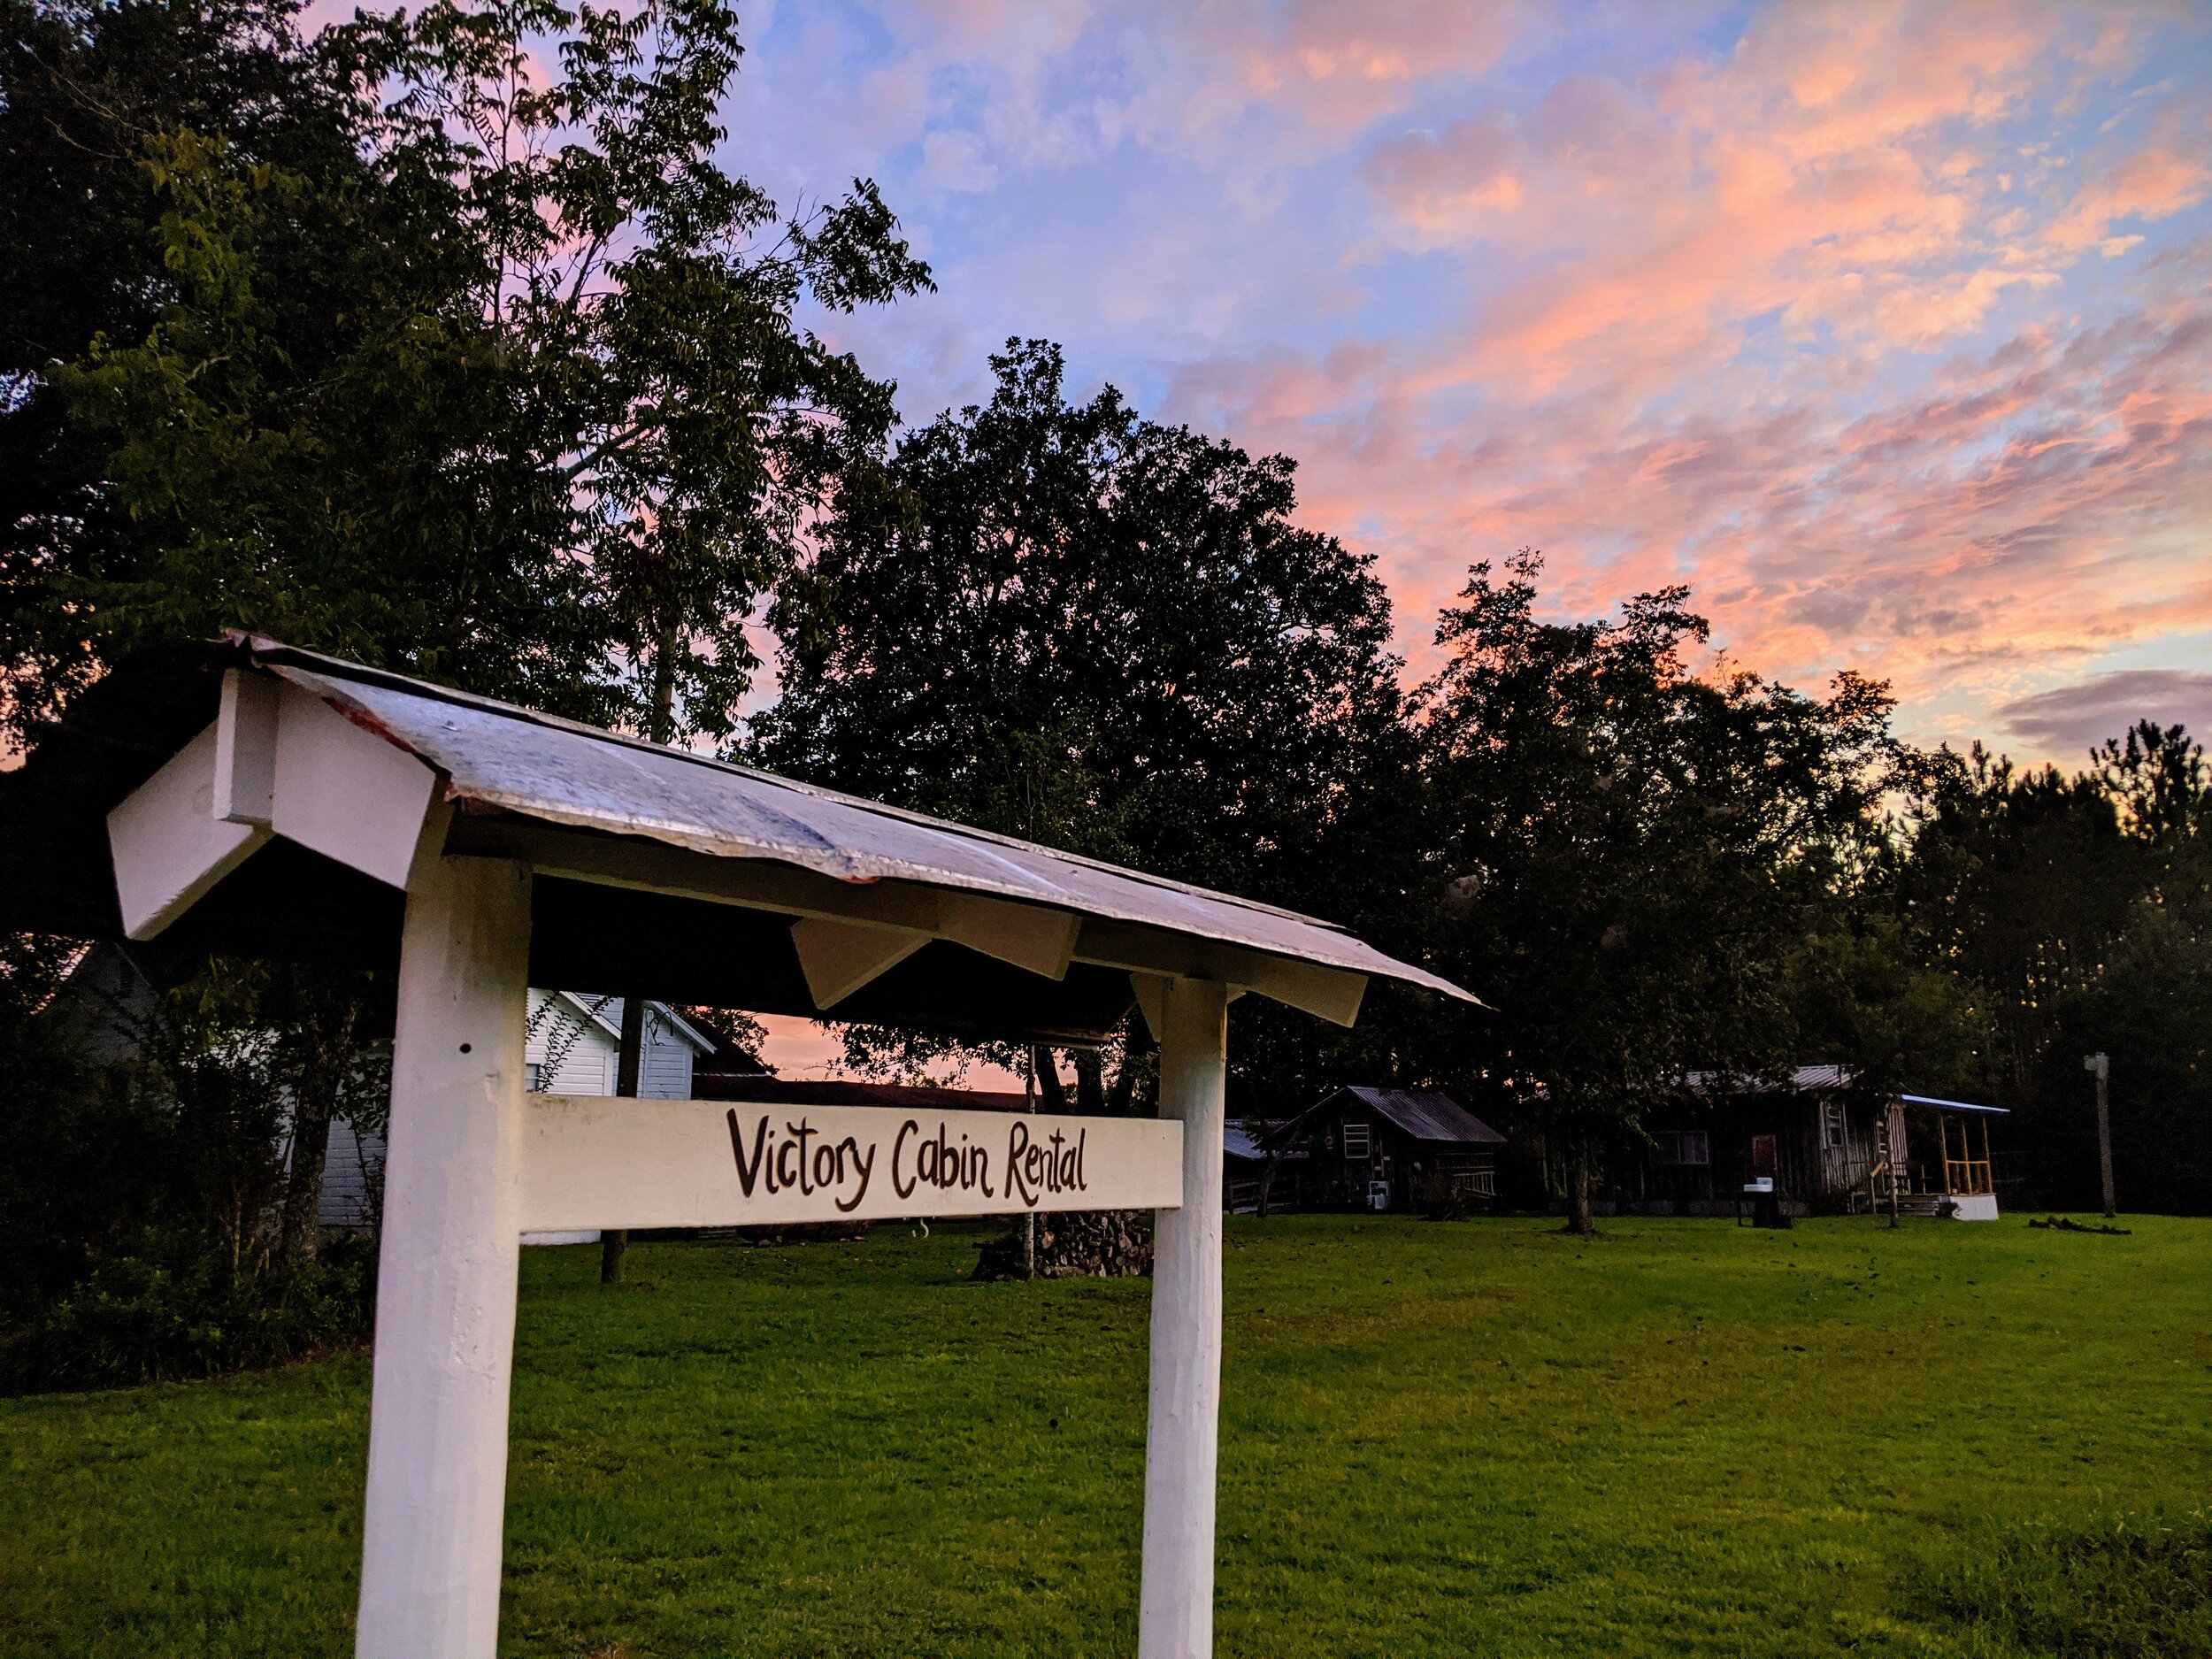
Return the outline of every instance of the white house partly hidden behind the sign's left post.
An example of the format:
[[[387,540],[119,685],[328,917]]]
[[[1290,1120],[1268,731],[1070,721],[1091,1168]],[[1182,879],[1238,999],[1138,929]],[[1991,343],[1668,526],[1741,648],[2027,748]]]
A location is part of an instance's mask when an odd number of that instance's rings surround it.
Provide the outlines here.
[[[535,1095],[613,1095],[622,1057],[622,998],[580,991],[531,991],[529,1040],[522,1051],[524,1086]],[[646,1004],[646,1040],[637,1055],[637,1093],[648,1099],[690,1099],[692,1062],[714,1053],[714,1042],[666,1002]],[[365,1228],[376,1221],[385,1148],[354,1126],[330,1126],[323,1161],[325,1228]],[[529,1232],[522,1243],[591,1243],[597,1232]]]

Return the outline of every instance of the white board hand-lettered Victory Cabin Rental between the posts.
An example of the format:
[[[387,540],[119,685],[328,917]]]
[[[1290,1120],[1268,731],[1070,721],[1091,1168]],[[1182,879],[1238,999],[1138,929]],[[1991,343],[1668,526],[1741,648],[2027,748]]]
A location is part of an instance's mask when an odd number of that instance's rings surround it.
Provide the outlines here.
[[[524,1232],[1181,1203],[1183,1126],[1159,1117],[524,1097]]]

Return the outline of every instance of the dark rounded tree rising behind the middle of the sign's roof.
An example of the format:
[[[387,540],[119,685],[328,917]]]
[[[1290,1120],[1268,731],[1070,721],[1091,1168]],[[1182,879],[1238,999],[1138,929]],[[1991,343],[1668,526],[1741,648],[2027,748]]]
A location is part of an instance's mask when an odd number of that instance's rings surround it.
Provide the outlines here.
[[[1407,770],[1371,560],[1294,522],[1294,467],[1071,403],[1009,341],[987,405],[847,489],[785,588],[765,765],[1356,922]],[[1394,843],[1405,847],[1405,843]]]

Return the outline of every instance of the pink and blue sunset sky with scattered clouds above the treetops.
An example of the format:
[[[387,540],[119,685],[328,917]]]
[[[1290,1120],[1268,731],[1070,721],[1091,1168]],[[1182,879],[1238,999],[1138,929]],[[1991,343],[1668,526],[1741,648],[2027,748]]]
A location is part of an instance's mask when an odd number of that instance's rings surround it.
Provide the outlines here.
[[[2212,9],[754,4],[728,159],[880,181],[938,294],[1301,462],[1416,670],[1475,557],[1694,584],[1745,666],[2075,763],[2212,730]]]

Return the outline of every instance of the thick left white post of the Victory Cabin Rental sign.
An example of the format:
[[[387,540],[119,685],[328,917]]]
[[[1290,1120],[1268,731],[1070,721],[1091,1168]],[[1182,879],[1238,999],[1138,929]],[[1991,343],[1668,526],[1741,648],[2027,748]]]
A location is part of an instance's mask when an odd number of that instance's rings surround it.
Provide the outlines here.
[[[400,936],[358,1659],[493,1659],[531,872],[425,860]]]

